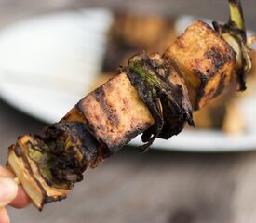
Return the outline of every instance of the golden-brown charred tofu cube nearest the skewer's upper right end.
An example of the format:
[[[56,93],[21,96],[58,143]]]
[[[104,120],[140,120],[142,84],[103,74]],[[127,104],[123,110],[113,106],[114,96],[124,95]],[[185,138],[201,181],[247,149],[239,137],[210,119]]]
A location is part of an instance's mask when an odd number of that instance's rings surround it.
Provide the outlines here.
[[[232,47],[200,20],[168,47],[164,57],[185,79],[195,110],[205,106],[229,84],[236,63]]]

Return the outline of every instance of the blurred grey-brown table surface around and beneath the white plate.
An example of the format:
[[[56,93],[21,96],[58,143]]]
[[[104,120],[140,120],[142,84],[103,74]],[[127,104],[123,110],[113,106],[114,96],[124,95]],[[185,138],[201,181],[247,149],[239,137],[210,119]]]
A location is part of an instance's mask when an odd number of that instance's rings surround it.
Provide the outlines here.
[[[255,1],[244,1],[249,28],[256,30]],[[46,11],[78,7],[129,8],[226,19],[226,1],[0,1],[0,26]],[[44,123],[0,100],[0,164],[17,136]],[[255,148],[256,149],[256,148]],[[34,223],[254,223],[256,152],[184,153],[127,147],[89,170],[67,200],[39,213],[34,206],[8,208],[12,222]]]

